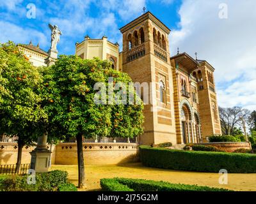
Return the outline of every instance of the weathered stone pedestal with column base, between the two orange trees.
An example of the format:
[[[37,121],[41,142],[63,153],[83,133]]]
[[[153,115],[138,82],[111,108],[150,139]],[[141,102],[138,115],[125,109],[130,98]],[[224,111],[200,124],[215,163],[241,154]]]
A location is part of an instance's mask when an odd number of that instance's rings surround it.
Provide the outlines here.
[[[35,150],[31,154],[31,169],[36,173],[44,173],[49,171],[49,161],[51,159],[51,151],[47,149],[47,133],[39,136]]]

